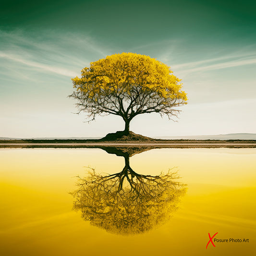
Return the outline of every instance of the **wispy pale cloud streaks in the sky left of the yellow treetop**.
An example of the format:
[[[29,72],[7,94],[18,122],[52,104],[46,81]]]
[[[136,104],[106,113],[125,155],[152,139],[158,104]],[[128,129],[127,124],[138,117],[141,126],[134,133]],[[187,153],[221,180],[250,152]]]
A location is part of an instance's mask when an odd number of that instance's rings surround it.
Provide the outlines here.
[[[73,77],[89,65],[91,56],[105,57],[105,50],[90,37],[75,34],[53,34],[45,31],[27,35],[24,31],[0,31],[0,58],[9,60],[5,70],[23,68]],[[95,57],[94,57],[95,58]],[[11,62],[10,62],[11,61]],[[12,64],[10,64],[12,63]]]

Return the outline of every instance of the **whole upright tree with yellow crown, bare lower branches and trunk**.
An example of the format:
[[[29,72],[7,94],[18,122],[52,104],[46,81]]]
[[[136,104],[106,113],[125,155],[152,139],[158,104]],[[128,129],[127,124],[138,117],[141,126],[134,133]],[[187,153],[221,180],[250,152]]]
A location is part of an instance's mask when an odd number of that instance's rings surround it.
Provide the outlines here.
[[[76,91],[71,97],[78,101],[78,113],[85,111],[87,122],[97,115],[121,116],[125,135],[135,116],[156,112],[171,120],[180,112],[176,107],[186,104],[181,79],[170,67],[149,56],[114,54],[91,62],[81,73],[81,78],[72,79]]]

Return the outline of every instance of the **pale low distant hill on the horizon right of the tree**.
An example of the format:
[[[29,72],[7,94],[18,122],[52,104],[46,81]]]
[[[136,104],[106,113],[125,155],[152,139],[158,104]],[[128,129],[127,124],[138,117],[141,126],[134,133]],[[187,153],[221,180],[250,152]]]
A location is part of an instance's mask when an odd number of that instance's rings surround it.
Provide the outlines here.
[[[157,136],[156,139],[186,139],[186,140],[256,140],[256,134],[218,134],[190,136]]]

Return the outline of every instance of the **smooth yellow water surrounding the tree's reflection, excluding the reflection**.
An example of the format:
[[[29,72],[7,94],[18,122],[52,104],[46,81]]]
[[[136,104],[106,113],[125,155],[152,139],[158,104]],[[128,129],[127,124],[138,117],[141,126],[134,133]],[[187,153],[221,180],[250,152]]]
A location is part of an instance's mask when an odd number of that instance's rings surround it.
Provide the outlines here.
[[[101,149],[0,149],[1,256],[256,255],[256,149],[154,149],[130,158],[140,174],[176,167],[187,184],[162,226],[122,236],[72,210],[86,166],[122,171],[124,158]],[[174,170],[174,169],[173,169]],[[249,242],[210,243],[218,239]]]

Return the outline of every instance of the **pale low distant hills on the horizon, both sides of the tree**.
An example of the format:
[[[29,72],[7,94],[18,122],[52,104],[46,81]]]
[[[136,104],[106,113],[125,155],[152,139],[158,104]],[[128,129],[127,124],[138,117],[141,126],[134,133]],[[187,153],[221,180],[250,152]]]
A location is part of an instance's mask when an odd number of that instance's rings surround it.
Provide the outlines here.
[[[0,140],[17,140],[17,139],[35,139],[35,140],[54,140],[54,139],[100,139],[101,137],[38,137],[38,138],[9,138],[0,137]],[[190,135],[190,136],[154,136],[156,139],[186,139],[186,140],[256,140],[256,134],[219,134],[219,135]]]

